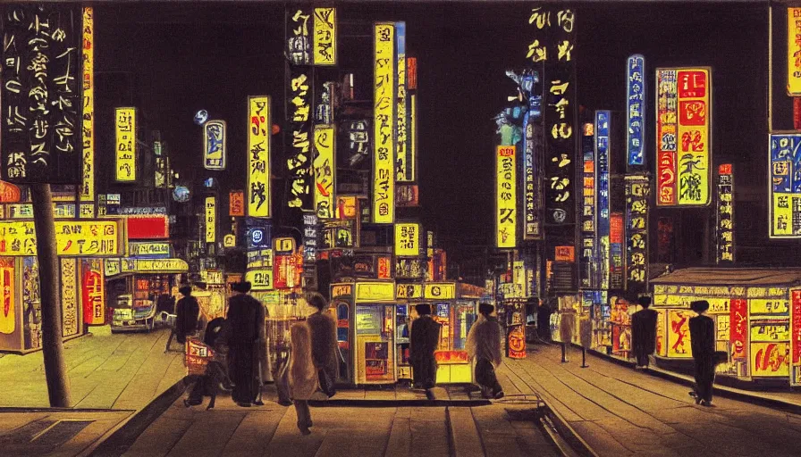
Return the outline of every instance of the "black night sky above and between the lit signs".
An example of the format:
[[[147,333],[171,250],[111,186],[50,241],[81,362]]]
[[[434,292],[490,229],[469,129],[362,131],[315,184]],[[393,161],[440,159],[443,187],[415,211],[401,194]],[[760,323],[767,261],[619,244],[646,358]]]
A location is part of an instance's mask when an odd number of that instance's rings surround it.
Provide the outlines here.
[[[407,22],[408,54],[417,56],[419,67],[424,221],[443,238],[491,243],[492,118],[513,93],[504,71],[526,65],[531,6],[339,5],[340,53],[347,62],[369,64],[368,51],[354,53],[368,50],[371,37],[353,36],[369,21]],[[577,10],[580,104],[622,111],[629,54],[645,55],[649,91],[658,66],[712,66],[715,161],[755,170],[755,185],[766,187],[764,6],[581,4]],[[98,4],[95,17],[96,71],[137,73],[135,103],[178,154],[178,169],[200,166],[200,129],[191,119],[203,107],[228,122],[223,176],[225,184],[243,187],[246,97],[274,96],[274,122],[282,118],[282,5]],[[357,84],[369,90],[372,80]],[[106,91],[114,88],[98,87],[98,98]],[[653,92],[647,99],[647,154],[653,157]],[[278,148],[274,141],[274,167],[283,163]]]

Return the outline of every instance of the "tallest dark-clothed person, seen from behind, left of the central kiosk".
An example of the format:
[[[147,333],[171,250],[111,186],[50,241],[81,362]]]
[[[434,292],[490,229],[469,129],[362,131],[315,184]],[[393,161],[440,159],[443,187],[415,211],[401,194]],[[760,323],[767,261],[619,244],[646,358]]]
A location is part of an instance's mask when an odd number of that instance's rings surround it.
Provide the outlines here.
[[[235,283],[228,305],[229,364],[233,381],[232,400],[242,407],[256,402],[258,386],[258,357],[261,328],[265,325],[265,309],[257,299],[248,295],[249,282]]]

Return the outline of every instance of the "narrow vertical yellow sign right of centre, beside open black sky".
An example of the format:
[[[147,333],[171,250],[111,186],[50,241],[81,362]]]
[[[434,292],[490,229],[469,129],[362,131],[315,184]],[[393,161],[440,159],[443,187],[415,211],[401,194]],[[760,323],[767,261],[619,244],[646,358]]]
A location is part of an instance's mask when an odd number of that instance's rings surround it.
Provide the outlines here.
[[[495,151],[495,246],[513,248],[518,244],[515,146],[497,146]]]

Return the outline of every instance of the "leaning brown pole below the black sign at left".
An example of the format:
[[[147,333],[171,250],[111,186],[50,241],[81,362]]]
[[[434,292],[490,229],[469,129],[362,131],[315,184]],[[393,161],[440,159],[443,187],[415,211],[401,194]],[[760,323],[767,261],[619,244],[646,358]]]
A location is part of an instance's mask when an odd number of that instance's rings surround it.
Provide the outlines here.
[[[42,353],[50,406],[69,408],[70,382],[64,363],[59,265],[55,248],[53,195],[49,184],[30,185],[33,224],[36,228],[39,292],[42,304]]]

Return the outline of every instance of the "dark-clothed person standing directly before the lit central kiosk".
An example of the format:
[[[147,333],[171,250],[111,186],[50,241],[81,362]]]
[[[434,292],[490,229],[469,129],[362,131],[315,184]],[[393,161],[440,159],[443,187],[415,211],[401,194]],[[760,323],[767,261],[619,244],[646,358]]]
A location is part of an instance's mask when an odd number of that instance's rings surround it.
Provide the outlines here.
[[[439,346],[440,324],[431,317],[430,304],[419,303],[415,309],[419,317],[411,323],[409,361],[415,387],[428,390],[436,384],[434,351]]]

